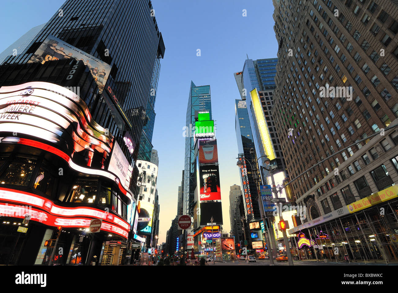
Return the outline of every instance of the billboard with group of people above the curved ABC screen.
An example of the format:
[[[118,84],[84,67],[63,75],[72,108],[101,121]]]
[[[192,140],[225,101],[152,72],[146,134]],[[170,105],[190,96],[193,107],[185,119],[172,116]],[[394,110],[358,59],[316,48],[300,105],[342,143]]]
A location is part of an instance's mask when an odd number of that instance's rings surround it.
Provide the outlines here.
[[[98,85],[98,89],[100,90],[99,93],[102,93],[109,73],[111,72],[111,66],[51,35],[41,43],[27,63],[40,62],[41,64],[44,64],[46,61],[60,59],[83,61],[90,69],[91,74]]]

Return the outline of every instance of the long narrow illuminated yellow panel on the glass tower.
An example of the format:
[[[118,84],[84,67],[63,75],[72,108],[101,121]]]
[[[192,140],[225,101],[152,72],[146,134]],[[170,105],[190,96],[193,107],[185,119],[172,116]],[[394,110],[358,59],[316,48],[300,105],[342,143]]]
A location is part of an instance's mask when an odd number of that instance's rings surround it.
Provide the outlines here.
[[[250,96],[252,97],[254,114],[256,115],[257,125],[260,131],[265,154],[267,154],[269,160],[273,160],[276,158],[275,150],[271,143],[271,135],[269,134],[267,123],[265,123],[264,110],[260,104],[260,98],[258,96],[257,89],[251,91]]]

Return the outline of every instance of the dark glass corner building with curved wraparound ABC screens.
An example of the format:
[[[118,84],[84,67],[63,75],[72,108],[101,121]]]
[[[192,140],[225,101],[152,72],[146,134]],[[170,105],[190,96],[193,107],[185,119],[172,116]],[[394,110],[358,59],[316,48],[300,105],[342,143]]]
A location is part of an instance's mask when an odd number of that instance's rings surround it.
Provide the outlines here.
[[[0,262],[87,265],[95,255],[100,265],[125,264],[145,241],[132,231],[135,162],[162,36],[148,1],[68,0],[60,9],[0,66]],[[39,56],[51,37],[109,66],[105,84],[89,62]],[[100,232],[86,232],[92,219],[102,220]],[[13,250],[18,226],[28,229]],[[57,244],[45,246],[49,239]]]

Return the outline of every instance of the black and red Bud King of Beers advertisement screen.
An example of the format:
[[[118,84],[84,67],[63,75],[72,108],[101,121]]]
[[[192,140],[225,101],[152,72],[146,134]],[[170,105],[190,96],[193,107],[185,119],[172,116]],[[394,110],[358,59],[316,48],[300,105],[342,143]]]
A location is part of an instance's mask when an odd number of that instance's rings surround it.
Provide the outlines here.
[[[220,173],[218,165],[207,165],[199,167],[199,199],[221,200]]]

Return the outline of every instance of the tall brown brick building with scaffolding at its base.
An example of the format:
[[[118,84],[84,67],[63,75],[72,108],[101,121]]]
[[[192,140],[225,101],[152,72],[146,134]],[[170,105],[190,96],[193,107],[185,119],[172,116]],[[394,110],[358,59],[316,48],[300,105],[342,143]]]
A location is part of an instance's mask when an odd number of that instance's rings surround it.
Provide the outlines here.
[[[371,135],[398,122],[398,6],[387,0],[273,4],[279,61],[271,112],[288,172],[300,175],[292,185],[305,211],[303,225],[291,232],[302,236],[298,243],[312,237],[324,245],[302,245],[302,256],[396,259],[397,133]],[[344,253],[332,254],[335,246]]]

